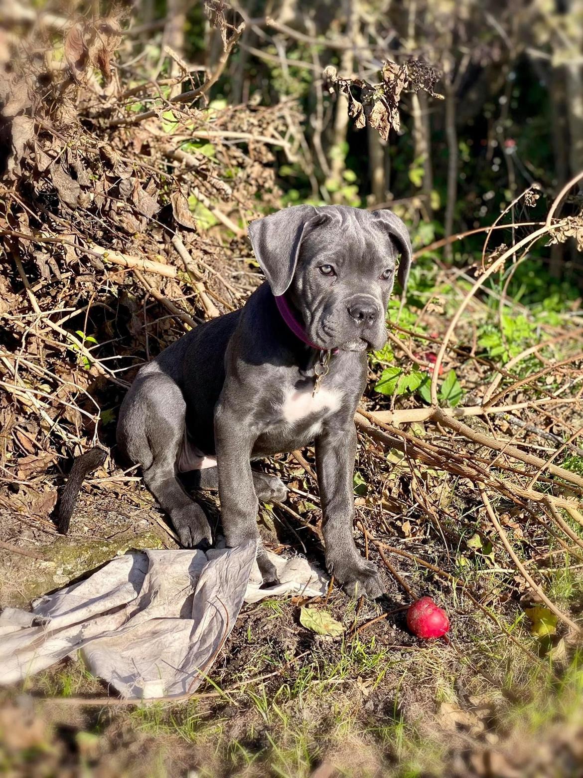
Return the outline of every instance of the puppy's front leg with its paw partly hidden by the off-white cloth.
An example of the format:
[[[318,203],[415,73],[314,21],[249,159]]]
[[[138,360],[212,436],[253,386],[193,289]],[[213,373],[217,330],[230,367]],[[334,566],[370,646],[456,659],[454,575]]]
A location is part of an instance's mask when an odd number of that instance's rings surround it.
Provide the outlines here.
[[[264,584],[276,584],[278,574],[267,557],[257,527],[259,503],[250,461],[255,440],[257,432],[241,419],[240,409],[231,408],[228,401],[220,400],[215,408],[215,446],[225,539],[230,547],[249,541],[256,543],[257,564]]]

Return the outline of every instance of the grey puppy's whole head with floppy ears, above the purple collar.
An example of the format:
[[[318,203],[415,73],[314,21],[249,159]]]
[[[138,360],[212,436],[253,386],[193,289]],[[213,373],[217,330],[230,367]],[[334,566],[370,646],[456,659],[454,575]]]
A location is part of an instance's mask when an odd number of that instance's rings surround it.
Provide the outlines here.
[[[251,223],[249,234],[271,291],[286,294],[312,343],[382,348],[395,274],[404,289],[411,264],[409,233],[397,216],[386,209],[295,205]]]

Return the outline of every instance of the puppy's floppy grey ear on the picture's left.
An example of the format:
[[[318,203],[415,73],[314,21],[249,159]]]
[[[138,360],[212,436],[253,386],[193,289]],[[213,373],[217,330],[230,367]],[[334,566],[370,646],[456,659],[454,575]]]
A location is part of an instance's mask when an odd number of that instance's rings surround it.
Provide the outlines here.
[[[250,223],[253,251],[276,297],[292,283],[302,238],[320,219],[313,205],[293,205]]]

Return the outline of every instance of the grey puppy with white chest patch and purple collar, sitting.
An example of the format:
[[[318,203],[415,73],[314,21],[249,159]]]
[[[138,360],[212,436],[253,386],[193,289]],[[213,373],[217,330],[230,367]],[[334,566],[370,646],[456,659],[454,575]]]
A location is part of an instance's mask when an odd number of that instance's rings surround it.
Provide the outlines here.
[[[377,597],[377,570],[353,538],[353,417],[366,352],[386,342],[399,254],[398,279],[407,282],[407,229],[388,210],[297,205],[249,233],[267,282],[243,309],[201,324],[141,368],[121,406],[118,445],[141,465],[184,546],[212,538],[178,474],[197,471],[199,488],[218,486],[227,544],[257,542],[268,582],[275,574],[257,500],[285,499],[287,490],[251,461],[315,443],[326,567],[348,594]]]

